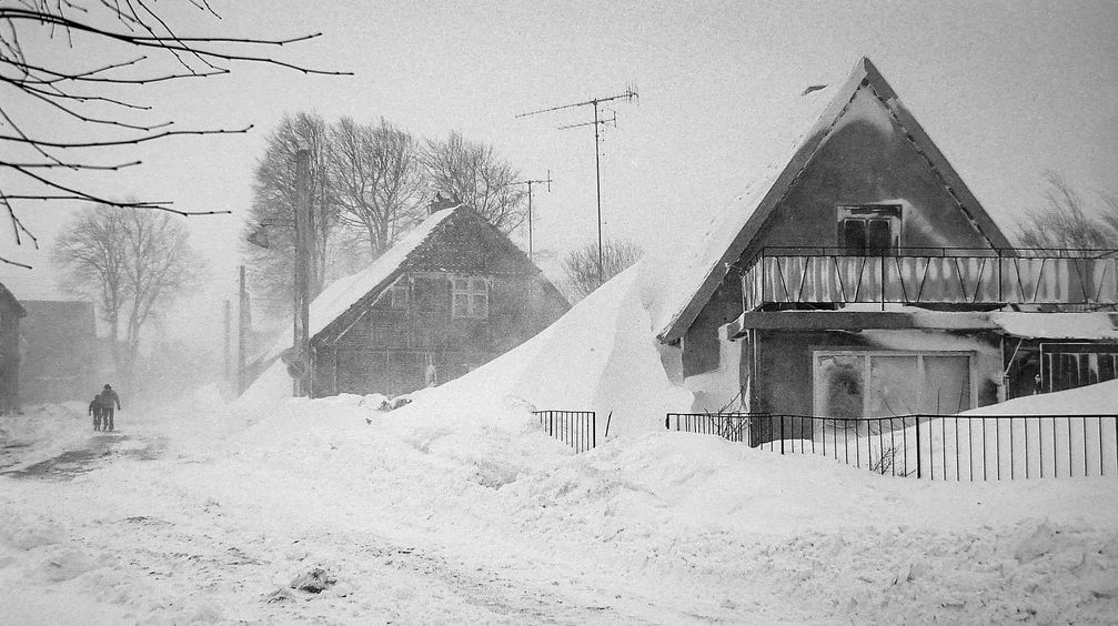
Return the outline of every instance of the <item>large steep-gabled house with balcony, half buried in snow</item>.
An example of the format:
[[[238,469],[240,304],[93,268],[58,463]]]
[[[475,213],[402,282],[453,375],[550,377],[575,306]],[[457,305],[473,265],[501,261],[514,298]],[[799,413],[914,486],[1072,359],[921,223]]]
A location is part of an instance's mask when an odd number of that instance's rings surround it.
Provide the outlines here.
[[[656,333],[695,409],[946,414],[1115,378],[1115,250],[1015,249],[869,59],[827,92],[681,262]]]

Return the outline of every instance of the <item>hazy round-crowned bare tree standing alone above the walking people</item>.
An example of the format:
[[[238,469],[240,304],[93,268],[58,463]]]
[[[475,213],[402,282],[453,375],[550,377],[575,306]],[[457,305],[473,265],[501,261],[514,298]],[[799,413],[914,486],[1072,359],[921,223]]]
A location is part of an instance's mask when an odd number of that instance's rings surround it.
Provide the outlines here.
[[[64,272],[63,288],[97,303],[117,371],[131,380],[145,324],[197,286],[203,262],[182,222],[124,205],[79,211],[58,238],[54,257]]]

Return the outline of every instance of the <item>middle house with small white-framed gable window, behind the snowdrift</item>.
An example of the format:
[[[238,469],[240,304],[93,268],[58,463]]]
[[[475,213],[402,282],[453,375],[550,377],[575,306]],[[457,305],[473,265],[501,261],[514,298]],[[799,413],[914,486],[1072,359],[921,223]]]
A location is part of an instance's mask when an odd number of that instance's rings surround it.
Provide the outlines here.
[[[569,309],[528,255],[475,211],[437,209],[311,303],[313,396],[396,396],[445,382]],[[290,348],[284,340],[272,357]]]

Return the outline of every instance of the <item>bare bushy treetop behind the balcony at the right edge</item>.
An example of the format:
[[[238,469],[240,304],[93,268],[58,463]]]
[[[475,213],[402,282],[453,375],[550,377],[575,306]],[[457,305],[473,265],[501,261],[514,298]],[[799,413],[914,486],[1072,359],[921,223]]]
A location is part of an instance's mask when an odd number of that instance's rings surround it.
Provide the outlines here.
[[[1106,212],[1092,211],[1082,193],[1054,171],[1044,174],[1045,206],[1017,229],[1025,248],[1118,248],[1118,198],[1101,193]]]

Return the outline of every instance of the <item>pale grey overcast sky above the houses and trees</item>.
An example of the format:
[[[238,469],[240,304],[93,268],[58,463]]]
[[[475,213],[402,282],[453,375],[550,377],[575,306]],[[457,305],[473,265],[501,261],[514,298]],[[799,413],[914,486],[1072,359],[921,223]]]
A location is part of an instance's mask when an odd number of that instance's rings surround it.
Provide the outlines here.
[[[607,236],[646,248],[671,246],[689,222],[724,209],[786,141],[804,87],[842,82],[862,56],[1005,227],[1040,206],[1045,170],[1087,191],[1118,191],[1118,2],[210,3],[221,20],[188,11],[179,34],[322,31],[283,58],[354,76],[236,65],[230,76],[135,94],[183,126],[256,125],[247,135],[151,145],[142,168],[87,183],[234,211],[188,221],[214,273],[211,293],[191,304],[208,323],[234,297],[253,169],[285,112],[385,117],[426,137],[461,130],[525,177],[550,170],[552,192],[534,202],[549,271],[596,236],[593,130],[556,130],[591,112],[515,115],[629,85],[639,101],[613,107],[617,127],[603,144],[603,212]],[[64,297],[48,252],[67,208],[31,206],[23,217],[42,249],[15,248],[4,229],[3,255],[35,269],[0,266],[0,279],[18,297]]]

